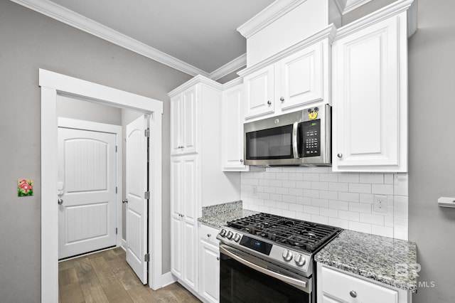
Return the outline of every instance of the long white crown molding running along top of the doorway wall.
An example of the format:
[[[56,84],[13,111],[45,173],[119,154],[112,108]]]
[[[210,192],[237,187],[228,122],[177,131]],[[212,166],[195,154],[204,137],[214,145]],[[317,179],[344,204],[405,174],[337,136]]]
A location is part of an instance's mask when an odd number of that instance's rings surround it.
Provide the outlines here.
[[[131,50],[134,53],[144,55],[144,57],[146,58],[150,58],[159,63],[163,63],[164,65],[168,65],[169,67],[175,68],[176,70],[180,70],[181,72],[186,73],[188,75],[204,75],[206,77],[210,76],[209,73],[206,73],[205,71],[200,70],[199,68],[196,68],[193,65],[189,65],[188,63],[185,63],[182,60],[174,58],[166,53],[163,53],[161,50],[157,50],[156,48],[147,46],[144,43],[141,43],[133,38],[130,38],[129,36],[119,33],[118,31],[114,31],[112,28],[108,28],[107,26],[103,26],[100,23],[92,21],[91,19],[86,18],[80,14],[77,14],[74,11],[65,9],[63,6],[55,4],[51,1],[48,0],[10,1],[13,1],[21,6],[25,6],[28,9],[32,9],[33,11],[37,11],[40,14],[43,14],[65,24],[68,24],[69,26],[78,28],[81,31],[90,33],[93,36],[97,36],[98,38],[102,38],[106,41],[114,43],[117,46],[121,46],[122,48]]]

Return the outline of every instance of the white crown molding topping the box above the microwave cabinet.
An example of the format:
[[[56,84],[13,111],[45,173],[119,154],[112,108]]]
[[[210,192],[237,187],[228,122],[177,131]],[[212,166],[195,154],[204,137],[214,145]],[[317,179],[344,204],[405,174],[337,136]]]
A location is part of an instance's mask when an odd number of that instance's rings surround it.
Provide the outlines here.
[[[306,0],[280,0],[274,1],[256,16],[237,28],[237,31],[245,38],[250,38],[262,28],[276,21],[278,18],[287,14]]]

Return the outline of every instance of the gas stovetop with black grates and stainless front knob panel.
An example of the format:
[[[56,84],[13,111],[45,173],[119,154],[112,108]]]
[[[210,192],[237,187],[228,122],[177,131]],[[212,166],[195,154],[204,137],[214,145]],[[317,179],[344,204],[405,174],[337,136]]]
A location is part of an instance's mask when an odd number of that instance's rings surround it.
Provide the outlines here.
[[[257,213],[229,221],[221,228],[217,239],[220,250],[247,253],[259,258],[257,262],[266,261],[310,277],[314,254],[341,230],[330,225]]]

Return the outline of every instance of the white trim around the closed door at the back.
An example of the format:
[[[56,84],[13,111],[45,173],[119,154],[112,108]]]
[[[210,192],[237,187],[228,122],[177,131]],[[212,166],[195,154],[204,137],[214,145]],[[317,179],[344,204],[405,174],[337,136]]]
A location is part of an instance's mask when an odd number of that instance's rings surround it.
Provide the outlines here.
[[[116,225],[117,235],[115,235],[115,245],[122,245],[122,126],[114,124],[105,124],[92,121],[85,121],[79,119],[70,119],[64,117],[58,117],[58,127],[65,127],[71,129],[82,129],[90,130],[95,132],[107,132],[109,134],[115,134],[115,144],[117,145],[116,159],[117,159],[117,193],[115,195],[115,210],[116,210]]]

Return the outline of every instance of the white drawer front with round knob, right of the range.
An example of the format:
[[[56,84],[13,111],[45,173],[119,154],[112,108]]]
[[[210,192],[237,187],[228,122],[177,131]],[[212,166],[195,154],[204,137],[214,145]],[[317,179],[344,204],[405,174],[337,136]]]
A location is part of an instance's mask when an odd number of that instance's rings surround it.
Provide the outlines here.
[[[343,302],[397,303],[398,292],[373,282],[322,267],[322,292]],[[354,297],[353,297],[354,296]],[[330,300],[327,302],[331,302]]]

